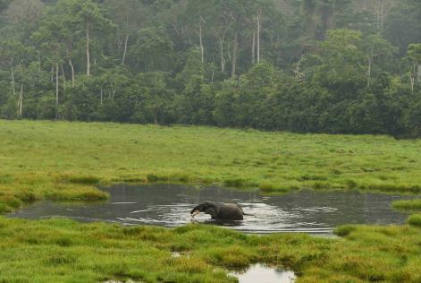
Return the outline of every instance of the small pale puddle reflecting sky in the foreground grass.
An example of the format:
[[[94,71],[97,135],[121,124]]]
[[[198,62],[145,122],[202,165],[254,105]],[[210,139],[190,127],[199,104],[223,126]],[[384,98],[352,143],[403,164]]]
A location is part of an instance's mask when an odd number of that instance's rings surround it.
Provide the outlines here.
[[[239,279],[239,283],[293,283],[297,279],[293,271],[275,270],[262,264],[256,264],[248,270],[230,274]]]

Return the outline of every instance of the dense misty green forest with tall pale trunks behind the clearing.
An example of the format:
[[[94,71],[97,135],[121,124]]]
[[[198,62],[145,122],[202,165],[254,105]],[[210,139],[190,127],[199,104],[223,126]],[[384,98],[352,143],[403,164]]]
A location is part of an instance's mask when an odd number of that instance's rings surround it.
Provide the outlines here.
[[[0,0],[0,118],[421,136],[418,0]]]

